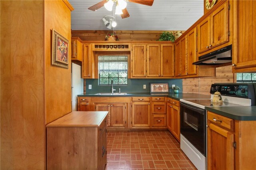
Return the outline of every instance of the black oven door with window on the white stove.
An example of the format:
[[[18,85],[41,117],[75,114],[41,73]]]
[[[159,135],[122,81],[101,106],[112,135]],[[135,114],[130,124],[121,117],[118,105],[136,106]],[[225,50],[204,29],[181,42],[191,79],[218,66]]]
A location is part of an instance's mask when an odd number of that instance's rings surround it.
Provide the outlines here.
[[[180,102],[180,133],[206,156],[206,110]]]

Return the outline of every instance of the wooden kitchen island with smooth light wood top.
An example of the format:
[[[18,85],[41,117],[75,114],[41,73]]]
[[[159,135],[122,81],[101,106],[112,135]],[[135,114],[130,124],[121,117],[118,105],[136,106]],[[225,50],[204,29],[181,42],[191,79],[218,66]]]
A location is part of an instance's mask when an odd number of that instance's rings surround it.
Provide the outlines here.
[[[46,125],[47,169],[103,170],[108,111],[73,111]]]

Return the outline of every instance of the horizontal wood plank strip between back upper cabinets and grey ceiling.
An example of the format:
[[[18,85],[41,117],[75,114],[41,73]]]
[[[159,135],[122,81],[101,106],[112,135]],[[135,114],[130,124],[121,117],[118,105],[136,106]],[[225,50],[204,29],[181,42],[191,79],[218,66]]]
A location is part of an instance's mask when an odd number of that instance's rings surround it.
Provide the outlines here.
[[[119,41],[157,41],[163,31],[116,31]],[[176,31],[168,31],[176,32]],[[184,32],[184,31],[182,31]],[[79,37],[82,41],[105,41],[108,33],[112,30],[72,30],[72,37]]]

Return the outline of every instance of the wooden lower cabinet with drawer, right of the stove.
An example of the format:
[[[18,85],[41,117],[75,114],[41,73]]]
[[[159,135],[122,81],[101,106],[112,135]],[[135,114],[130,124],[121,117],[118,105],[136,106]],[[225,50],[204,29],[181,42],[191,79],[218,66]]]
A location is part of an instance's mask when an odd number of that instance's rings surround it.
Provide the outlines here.
[[[256,121],[234,120],[210,111],[207,116],[208,170],[255,169]]]

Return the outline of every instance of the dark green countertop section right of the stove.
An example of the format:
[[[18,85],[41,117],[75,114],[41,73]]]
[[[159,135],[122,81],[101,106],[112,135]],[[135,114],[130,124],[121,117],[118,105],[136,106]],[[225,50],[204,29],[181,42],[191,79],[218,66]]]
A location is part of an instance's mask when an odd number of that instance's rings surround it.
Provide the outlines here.
[[[242,121],[256,120],[256,106],[208,106],[206,110]]]

